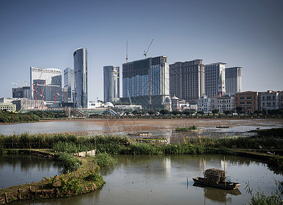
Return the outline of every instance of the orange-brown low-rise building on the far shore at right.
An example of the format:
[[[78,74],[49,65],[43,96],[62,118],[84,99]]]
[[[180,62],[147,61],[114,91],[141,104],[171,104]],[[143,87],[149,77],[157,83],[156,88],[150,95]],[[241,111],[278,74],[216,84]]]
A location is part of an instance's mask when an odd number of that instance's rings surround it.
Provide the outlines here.
[[[246,91],[235,94],[235,107],[241,107],[245,113],[253,113],[258,109],[258,92]]]

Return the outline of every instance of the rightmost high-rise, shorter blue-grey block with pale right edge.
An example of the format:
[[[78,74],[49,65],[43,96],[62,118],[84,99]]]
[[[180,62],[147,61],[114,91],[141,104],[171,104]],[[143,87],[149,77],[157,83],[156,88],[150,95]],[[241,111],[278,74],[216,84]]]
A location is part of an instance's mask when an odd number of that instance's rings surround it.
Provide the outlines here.
[[[225,68],[226,94],[235,94],[242,91],[241,67]]]

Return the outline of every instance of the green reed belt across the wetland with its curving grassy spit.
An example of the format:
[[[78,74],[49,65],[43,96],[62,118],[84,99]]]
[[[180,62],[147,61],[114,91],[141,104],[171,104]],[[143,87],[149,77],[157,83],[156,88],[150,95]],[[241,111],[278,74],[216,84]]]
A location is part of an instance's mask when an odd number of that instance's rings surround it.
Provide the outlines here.
[[[0,190],[1,202],[66,197],[87,193],[103,187],[99,166],[111,166],[116,160],[110,154],[232,154],[265,161],[276,172],[283,167],[282,128],[259,130],[255,137],[183,137],[178,143],[139,143],[128,136],[77,135],[75,133],[0,135],[1,154],[44,152],[62,161],[66,174],[45,178],[41,182],[23,184]],[[96,150],[96,157],[78,158],[75,152]],[[275,154],[266,154],[267,151]],[[278,171],[279,170],[279,171]],[[281,171],[280,171],[281,170]],[[262,197],[255,195],[253,197]],[[256,204],[256,203],[254,203]]]

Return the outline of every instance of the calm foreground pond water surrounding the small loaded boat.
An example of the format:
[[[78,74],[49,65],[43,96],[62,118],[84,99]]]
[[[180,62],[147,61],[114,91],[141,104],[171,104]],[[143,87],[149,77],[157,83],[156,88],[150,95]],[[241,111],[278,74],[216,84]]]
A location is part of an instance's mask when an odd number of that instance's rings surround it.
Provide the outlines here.
[[[205,169],[223,169],[224,156],[120,155],[116,158],[117,165],[100,169],[106,181],[103,189],[71,198],[21,204],[245,204],[252,197],[245,192],[245,182],[250,182],[251,189],[260,187],[269,193],[275,187],[274,179],[282,180],[282,175],[273,174],[264,163],[226,156],[226,172],[232,181],[242,184],[239,190],[196,187],[192,178],[203,176],[203,164]]]

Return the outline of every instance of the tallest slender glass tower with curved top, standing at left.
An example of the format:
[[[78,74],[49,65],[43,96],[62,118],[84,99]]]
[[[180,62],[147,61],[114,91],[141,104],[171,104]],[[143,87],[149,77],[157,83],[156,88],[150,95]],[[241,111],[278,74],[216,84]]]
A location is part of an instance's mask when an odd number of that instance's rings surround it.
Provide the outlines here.
[[[87,49],[74,52],[75,107],[87,108]]]

